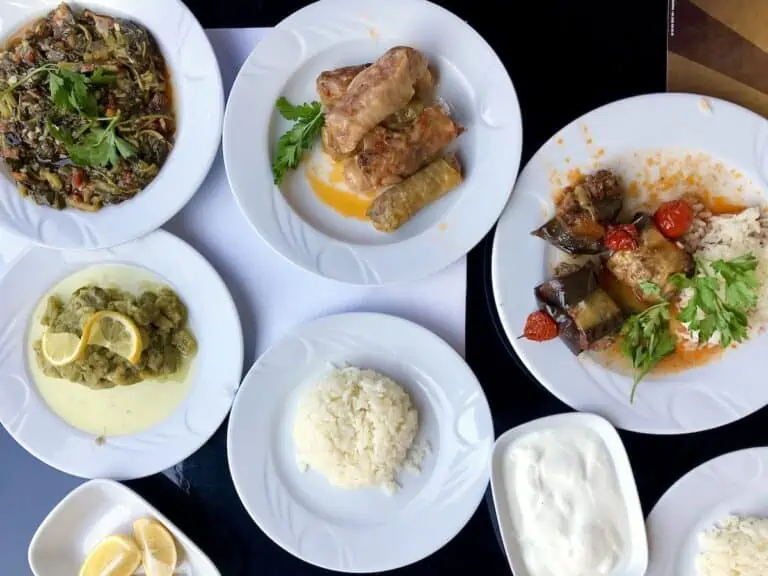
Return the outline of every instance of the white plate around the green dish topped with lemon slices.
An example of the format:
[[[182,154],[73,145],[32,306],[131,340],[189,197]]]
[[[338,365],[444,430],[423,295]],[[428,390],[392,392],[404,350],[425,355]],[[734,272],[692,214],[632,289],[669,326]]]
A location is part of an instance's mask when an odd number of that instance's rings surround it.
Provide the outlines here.
[[[143,268],[171,286],[187,306],[199,346],[181,405],[146,431],[109,436],[103,444],[48,407],[31,380],[26,344],[41,297],[60,280],[97,264]],[[97,251],[26,250],[0,279],[0,302],[0,422],[28,452],[54,468],[84,478],[148,476],[195,452],[229,412],[243,368],[237,310],[211,265],[167,232]]]

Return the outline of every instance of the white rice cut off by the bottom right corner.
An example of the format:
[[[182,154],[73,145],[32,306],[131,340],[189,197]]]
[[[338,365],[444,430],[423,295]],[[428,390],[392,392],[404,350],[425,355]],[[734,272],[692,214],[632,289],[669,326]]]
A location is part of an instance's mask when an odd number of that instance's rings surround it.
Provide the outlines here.
[[[768,519],[730,516],[699,534],[699,576],[768,574]]]

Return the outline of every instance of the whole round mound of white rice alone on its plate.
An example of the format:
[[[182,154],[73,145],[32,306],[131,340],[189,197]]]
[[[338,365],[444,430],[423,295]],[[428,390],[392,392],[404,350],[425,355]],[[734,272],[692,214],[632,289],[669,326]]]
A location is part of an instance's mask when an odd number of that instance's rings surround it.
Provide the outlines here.
[[[293,441],[299,467],[340,488],[397,491],[403,468],[419,472],[419,416],[408,393],[374,370],[338,368],[299,400]]]

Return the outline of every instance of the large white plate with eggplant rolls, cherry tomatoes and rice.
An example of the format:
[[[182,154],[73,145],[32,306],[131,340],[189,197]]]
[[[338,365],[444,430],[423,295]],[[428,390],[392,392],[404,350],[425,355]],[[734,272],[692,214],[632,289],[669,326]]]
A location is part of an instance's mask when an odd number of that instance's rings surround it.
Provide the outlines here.
[[[496,229],[510,352],[627,430],[695,432],[762,408],[767,189],[768,121],[729,102],[651,94],[573,121]]]

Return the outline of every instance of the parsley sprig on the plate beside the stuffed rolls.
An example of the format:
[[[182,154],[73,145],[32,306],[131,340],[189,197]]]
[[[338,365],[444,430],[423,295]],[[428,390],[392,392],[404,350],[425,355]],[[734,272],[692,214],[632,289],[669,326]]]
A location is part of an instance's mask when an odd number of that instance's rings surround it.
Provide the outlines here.
[[[272,162],[272,174],[275,184],[280,184],[287,170],[298,167],[301,157],[312,147],[325,122],[325,114],[320,102],[310,102],[294,106],[285,97],[277,100],[277,110],[286,120],[294,121],[288,132],[277,141],[275,160]]]

